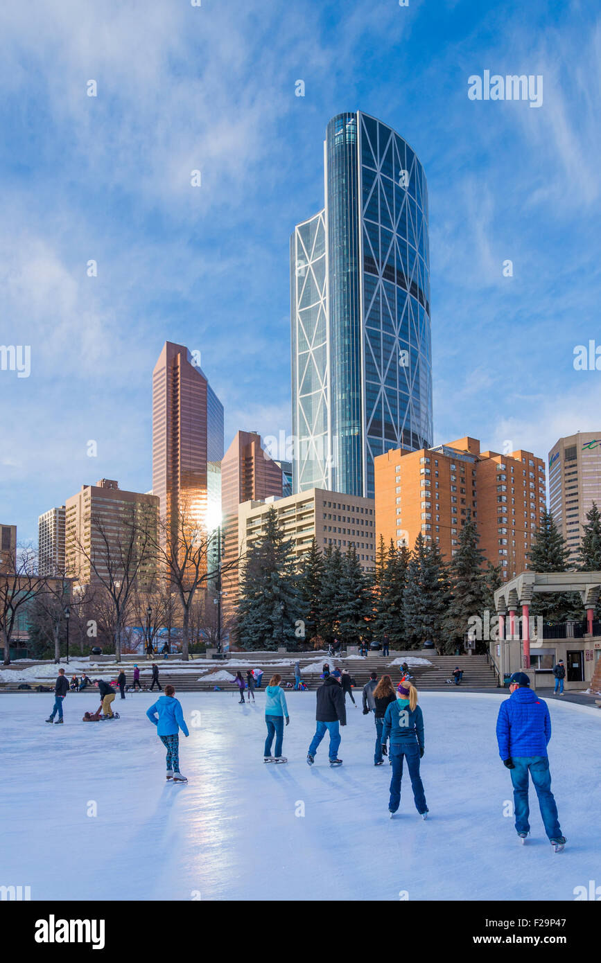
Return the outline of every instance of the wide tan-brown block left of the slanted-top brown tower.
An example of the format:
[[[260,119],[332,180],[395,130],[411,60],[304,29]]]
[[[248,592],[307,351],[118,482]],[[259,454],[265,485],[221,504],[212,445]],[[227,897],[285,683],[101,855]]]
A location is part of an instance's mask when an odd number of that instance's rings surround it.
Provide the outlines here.
[[[146,542],[144,550],[134,539],[135,528],[148,526],[150,542],[156,542],[159,499],[137,491],[122,491],[117,481],[101,479],[95,485],[82,485],[81,491],[65,501],[66,575],[80,584],[97,585],[100,576],[108,578],[108,557],[118,574],[120,560],[129,553],[140,560],[139,579],[147,584],[156,574],[156,551]],[[144,553],[141,558],[138,553]],[[94,561],[97,572],[94,571]]]

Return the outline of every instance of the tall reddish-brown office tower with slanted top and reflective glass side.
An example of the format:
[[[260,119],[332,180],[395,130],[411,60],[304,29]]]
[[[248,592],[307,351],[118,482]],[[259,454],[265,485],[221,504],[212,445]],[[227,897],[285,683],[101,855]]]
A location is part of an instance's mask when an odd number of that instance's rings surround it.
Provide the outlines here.
[[[173,538],[182,519],[220,524],[222,456],[223,405],[191,351],[167,341],[152,373],[152,493]]]

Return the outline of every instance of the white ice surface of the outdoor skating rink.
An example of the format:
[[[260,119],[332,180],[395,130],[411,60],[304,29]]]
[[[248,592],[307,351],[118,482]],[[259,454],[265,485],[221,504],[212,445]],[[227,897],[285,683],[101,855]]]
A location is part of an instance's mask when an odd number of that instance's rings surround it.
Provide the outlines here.
[[[327,740],[315,766],[305,762],[315,692],[286,691],[285,766],[263,763],[265,691],[255,697],[242,706],[237,690],[182,693],[187,785],[166,783],[165,749],[145,716],[153,695],[117,698],[121,717],[96,723],[81,721],[93,692],[67,695],[62,726],[44,723],[51,693],[0,698],[0,885],[29,885],[32,899],[571,900],[574,887],[599,882],[597,709],[549,703],[568,840],[555,855],[532,787],[527,846],[503,815],[512,794],[495,722],[507,696],[420,695],[426,822],[406,774],[388,818],[390,768],[374,767],[374,719],[360,699],[347,703],[344,765],[330,769]]]

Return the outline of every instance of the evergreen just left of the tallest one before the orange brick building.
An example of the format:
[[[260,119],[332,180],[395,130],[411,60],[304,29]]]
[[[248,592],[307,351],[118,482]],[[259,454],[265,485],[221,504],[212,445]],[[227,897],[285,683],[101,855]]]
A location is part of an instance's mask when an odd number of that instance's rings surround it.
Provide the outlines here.
[[[442,650],[448,601],[448,578],[438,544],[428,546],[420,532],[407,565],[403,593],[405,639],[411,647],[431,638],[437,650]]]

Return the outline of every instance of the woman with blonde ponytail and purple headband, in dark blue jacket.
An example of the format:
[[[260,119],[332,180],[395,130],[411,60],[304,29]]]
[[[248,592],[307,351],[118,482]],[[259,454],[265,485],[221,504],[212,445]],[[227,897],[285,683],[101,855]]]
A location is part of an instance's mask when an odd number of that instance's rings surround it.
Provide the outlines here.
[[[392,763],[392,779],[390,780],[390,800],[388,812],[390,819],[397,812],[401,804],[401,780],[403,778],[403,760],[406,760],[413,790],[415,808],[423,820],[428,816],[426,794],[420,776],[420,759],[424,755],[424,716],[417,704],[417,690],[410,682],[405,682],[397,690],[397,698],[391,702],[384,714],[382,725],[381,748],[386,748],[386,741],[390,740],[390,762]]]

